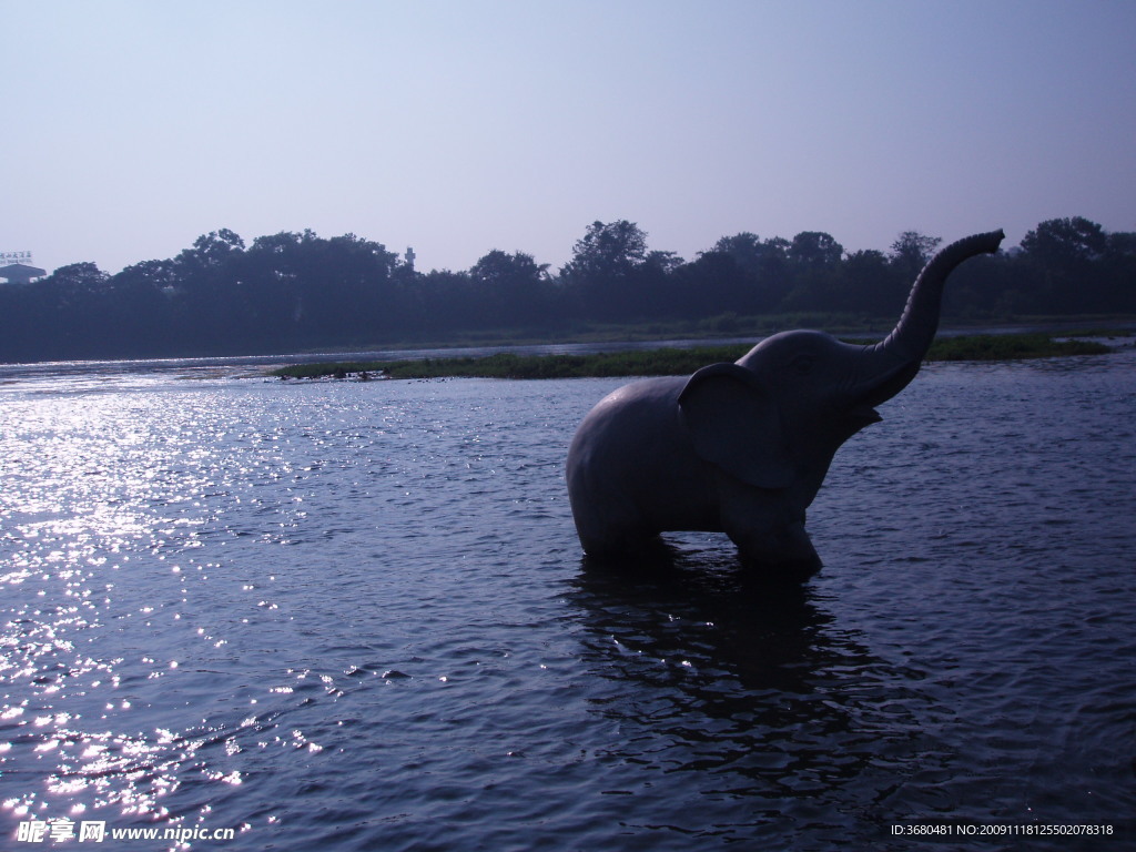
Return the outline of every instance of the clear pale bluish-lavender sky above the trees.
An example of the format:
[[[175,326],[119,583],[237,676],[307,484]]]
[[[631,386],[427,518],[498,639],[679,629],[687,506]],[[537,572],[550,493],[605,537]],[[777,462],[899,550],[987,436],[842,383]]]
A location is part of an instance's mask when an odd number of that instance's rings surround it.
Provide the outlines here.
[[[0,0],[0,251],[1136,231],[1131,0]]]

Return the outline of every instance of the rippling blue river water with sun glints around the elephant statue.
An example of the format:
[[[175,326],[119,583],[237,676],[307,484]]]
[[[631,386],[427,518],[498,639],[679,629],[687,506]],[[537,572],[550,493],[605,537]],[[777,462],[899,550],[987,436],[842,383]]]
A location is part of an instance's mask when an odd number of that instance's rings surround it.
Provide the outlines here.
[[[565,450],[616,381],[8,370],[0,836],[907,849],[893,824],[961,820],[1122,844],[1134,376],[1131,351],[926,368],[837,454],[821,574],[774,593],[712,535],[657,576],[582,561]]]

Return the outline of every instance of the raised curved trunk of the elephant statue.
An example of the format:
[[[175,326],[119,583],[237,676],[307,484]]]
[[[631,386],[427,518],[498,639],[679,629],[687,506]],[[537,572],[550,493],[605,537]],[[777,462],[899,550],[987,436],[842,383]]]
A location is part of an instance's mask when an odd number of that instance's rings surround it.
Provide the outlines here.
[[[947,276],[968,258],[993,254],[1003,239],[1005,234],[1001,228],[963,237],[942,249],[924,267],[911,286],[908,303],[895,328],[879,343],[864,348],[867,362],[872,365],[869,374],[882,378],[878,384],[872,383],[870,404],[892,399],[916,377],[938,329],[943,285]]]

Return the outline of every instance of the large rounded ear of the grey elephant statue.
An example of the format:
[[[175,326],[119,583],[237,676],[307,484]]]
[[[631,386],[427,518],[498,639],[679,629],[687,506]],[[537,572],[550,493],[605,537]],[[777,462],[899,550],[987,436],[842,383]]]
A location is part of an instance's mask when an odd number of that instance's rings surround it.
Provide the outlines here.
[[[699,458],[759,488],[794,479],[777,404],[761,381],[736,364],[712,364],[678,394]]]

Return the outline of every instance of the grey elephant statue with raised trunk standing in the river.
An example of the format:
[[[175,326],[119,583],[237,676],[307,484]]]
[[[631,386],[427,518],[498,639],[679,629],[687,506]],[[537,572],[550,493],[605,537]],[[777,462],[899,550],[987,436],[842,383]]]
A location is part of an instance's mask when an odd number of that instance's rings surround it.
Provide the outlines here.
[[[804,579],[820,559],[804,529],[841,444],[914,378],[938,327],[943,284],[994,253],[1002,231],[930,259],[891,334],[871,345],[782,332],[733,364],[625,385],[584,418],[568,450],[568,496],[588,557],[650,551],[659,534],[724,532],[744,562]]]

